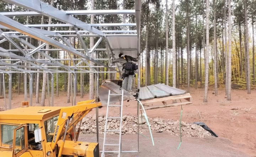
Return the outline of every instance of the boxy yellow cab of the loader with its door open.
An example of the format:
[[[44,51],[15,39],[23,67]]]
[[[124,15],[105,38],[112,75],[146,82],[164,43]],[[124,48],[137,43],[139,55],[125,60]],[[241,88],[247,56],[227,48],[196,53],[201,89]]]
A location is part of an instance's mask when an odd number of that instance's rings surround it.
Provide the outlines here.
[[[4,156],[21,156],[24,152],[43,156],[44,145],[53,140],[60,109],[31,106],[0,112],[0,149]]]

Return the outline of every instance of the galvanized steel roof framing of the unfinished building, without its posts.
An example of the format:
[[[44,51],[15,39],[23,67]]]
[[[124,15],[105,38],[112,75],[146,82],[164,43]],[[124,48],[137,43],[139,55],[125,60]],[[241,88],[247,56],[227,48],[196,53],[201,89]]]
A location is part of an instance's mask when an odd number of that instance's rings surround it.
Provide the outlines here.
[[[60,11],[57,8],[54,8],[40,0],[3,0],[10,4],[14,4],[23,8],[26,8],[27,12],[0,12],[0,43],[2,42],[10,42],[16,49],[5,50],[4,48],[0,48],[1,62],[0,69],[3,69],[5,73],[11,72],[10,67],[12,67],[12,71],[16,70],[23,71],[22,69],[30,69],[30,72],[36,71],[38,69],[41,72],[56,72],[56,69],[53,68],[63,68],[63,70],[67,70],[69,72],[73,71],[88,71],[83,68],[90,67],[87,61],[95,63],[95,66],[91,66],[91,72],[98,72],[94,69],[94,67],[106,67],[111,72],[119,72],[117,66],[109,66],[100,62],[101,60],[108,60],[111,62],[111,57],[115,58],[113,55],[113,51],[137,51],[139,55],[139,26],[140,26],[140,7],[141,0],[135,0],[135,10],[76,10],[76,11]],[[136,23],[100,23],[100,24],[88,24],[76,19],[72,15],[95,15],[95,14],[135,14]],[[56,19],[60,22],[60,24],[20,24],[9,17],[14,16],[47,16],[53,19]],[[95,27],[136,27],[136,30],[104,30],[97,29]],[[44,30],[44,27],[73,27],[72,30],[53,30],[47,31]],[[39,29],[40,28],[40,29]],[[5,31],[14,30],[14,31]],[[80,29],[80,30],[78,30]],[[92,33],[92,34],[89,34]],[[107,33],[107,34],[106,34]],[[110,34],[108,34],[110,33]],[[120,34],[123,33],[123,34]],[[134,34],[135,33],[135,34]],[[137,34],[136,34],[137,33]],[[85,45],[83,41],[83,37],[99,37],[98,41],[95,45],[89,49]],[[132,37],[137,36],[138,44],[137,47],[110,47],[110,41],[108,41],[107,36],[123,36],[123,37]],[[34,38],[39,41],[42,41],[42,45],[33,46],[24,40],[25,38]],[[82,49],[75,49],[65,38],[66,37],[78,37]],[[13,40],[15,39],[15,41]],[[103,40],[102,40],[103,39]],[[18,43],[16,43],[18,40]],[[101,43],[101,41],[105,41],[107,43],[106,48],[97,48],[97,46]],[[52,48],[45,49],[45,45],[52,45]],[[66,66],[62,63],[64,59],[52,58],[46,54],[54,52],[54,51],[66,51],[69,54],[73,54],[79,58],[71,58],[65,60],[71,60],[74,63],[74,60],[80,60],[80,62],[76,63],[74,66]],[[91,58],[89,57],[91,53],[95,51],[110,51],[108,52],[108,58]],[[21,52],[22,56],[18,56],[18,53]],[[86,52],[86,53],[82,53]],[[36,59],[33,58],[34,53],[39,53],[45,57],[45,59]],[[2,59],[2,57],[5,57]],[[82,62],[85,62],[84,66],[79,66]],[[26,65],[24,65],[26,63]],[[12,65],[13,64],[13,65]],[[5,67],[4,67],[5,66]],[[15,68],[14,68],[15,67]],[[29,68],[30,67],[30,68]],[[52,67],[52,68],[50,68]],[[63,71],[60,70],[60,71]],[[63,71],[63,72],[64,72]]]

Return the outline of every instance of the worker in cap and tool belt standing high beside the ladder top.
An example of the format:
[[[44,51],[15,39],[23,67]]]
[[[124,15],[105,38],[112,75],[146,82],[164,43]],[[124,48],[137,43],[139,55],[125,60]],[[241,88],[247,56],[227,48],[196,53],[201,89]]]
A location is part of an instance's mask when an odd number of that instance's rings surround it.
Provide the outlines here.
[[[133,77],[135,77],[134,70],[138,69],[138,65],[133,62],[138,62],[140,60],[140,56],[137,58],[133,58],[131,56],[124,55],[120,53],[119,58],[113,60],[113,63],[120,63],[123,66],[122,69],[122,88],[126,89],[128,92],[132,92],[132,82]],[[133,62],[132,62],[133,61]]]

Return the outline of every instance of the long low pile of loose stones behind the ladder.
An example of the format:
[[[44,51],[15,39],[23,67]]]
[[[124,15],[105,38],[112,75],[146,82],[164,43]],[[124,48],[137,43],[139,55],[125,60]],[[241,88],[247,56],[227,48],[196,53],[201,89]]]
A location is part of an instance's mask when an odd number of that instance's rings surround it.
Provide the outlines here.
[[[104,115],[99,116],[99,133],[104,134],[105,128],[105,120],[106,117]],[[123,116],[122,117],[122,134],[135,134],[137,133],[137,117],[133,116]],[[149,118],[149,123],[151,126],[151,130],[153,132],[161,133],[167,132],[172,135],[179,136],[180,135],[180,122],[173,120],[164,120],[161,118]],[[79,124],[78,124],[79,125]],[[108,130],[119,130],[120,121],[117,119],[108,119],[107,129]],[[77,126],[78,128],[79,126]],[[187,137],[208,137],[211,134],[204,130],[201,126],[193,123],[186,123],[181,121],[181,133],[182,136]],[[139,131],[140,133],[149,132],[148,124],[143,117],[139,117]],[[96,116],[85,117],[82,120],[81,132],[84,134],[88,133],[96,133]],[[118,132],[108,132],[108,134],[119,134]]]

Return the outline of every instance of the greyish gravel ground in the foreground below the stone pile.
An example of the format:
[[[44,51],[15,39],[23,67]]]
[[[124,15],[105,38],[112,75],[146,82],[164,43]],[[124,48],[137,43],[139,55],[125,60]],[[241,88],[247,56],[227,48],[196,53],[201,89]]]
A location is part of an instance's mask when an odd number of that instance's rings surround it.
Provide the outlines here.
[[[150,137],[149,133],[144,133]],[[110,135],[111,140],[107,140],[108,144],[117,144],[118,135]],[[247,157],[246,153],[237,150],[230,140],[224,138],[182,138],[180,148],[180,138],[172,136],[168,133],[154,133],[154,144],[150,138],[139,136],[139,153],[122,153],[122,157]],[[95,134],[81,134],[79,141],[96,141]],[[99,137],[100,152],[102,151],[103,135]],[[129,134],[122,136],[122,151],[137,151],[137,134]],[[116,151],[118,147],[107,147],[105,150]],[[106,157],[117,156],[116,154],[106,153]]]

